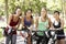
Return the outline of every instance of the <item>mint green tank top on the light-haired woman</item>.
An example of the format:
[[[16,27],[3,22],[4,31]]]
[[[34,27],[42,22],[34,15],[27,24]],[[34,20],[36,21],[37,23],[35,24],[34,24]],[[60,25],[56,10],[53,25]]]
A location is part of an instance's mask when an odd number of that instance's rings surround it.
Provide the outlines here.
[[[47,30],[47,28],[45,28],[46,25],[48,25],[48,20],[46,20],[45,22],[42,22],[41,18],[40,18],[40,20],[38,20],[38,26],[37,26],[38,31],[46,31]],[[41,36],[44,35],[43,32],[38,32],[37,34],[41,35]]]

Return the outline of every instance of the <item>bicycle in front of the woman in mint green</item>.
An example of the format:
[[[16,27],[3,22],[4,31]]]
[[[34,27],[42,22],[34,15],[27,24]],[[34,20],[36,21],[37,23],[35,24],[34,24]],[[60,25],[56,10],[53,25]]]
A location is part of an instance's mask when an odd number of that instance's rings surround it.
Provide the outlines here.
[[[41,42],[41,44],[47,44],[47,42],[46,42],[46,38],[45,38],[45,36],[46,36],[46,34],[47,34],[47,31],[32,31],[32,43],[33,42],[35,42],[35,41],[37,41],[40,37],[37,36],[37,34],[36,33],[38,33],[38,32],[43,32],[44,33],[44,37],[43,37],[43,40],[42,40],[42,42]],[[46,33],[45,33],[46,32]],[[50,36],[47,36],[47,37],[50,37]]]

